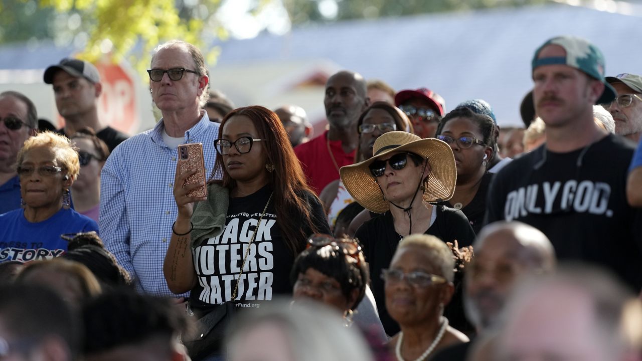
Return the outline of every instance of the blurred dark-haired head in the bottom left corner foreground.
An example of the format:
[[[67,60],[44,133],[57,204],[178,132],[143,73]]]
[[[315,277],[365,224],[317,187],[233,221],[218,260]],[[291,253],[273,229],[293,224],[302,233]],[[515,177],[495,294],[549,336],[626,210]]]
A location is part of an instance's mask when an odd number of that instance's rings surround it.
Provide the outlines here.
[[[49,288],[0,286],[0,359],[78,360],[81,336],[78,315]]]

